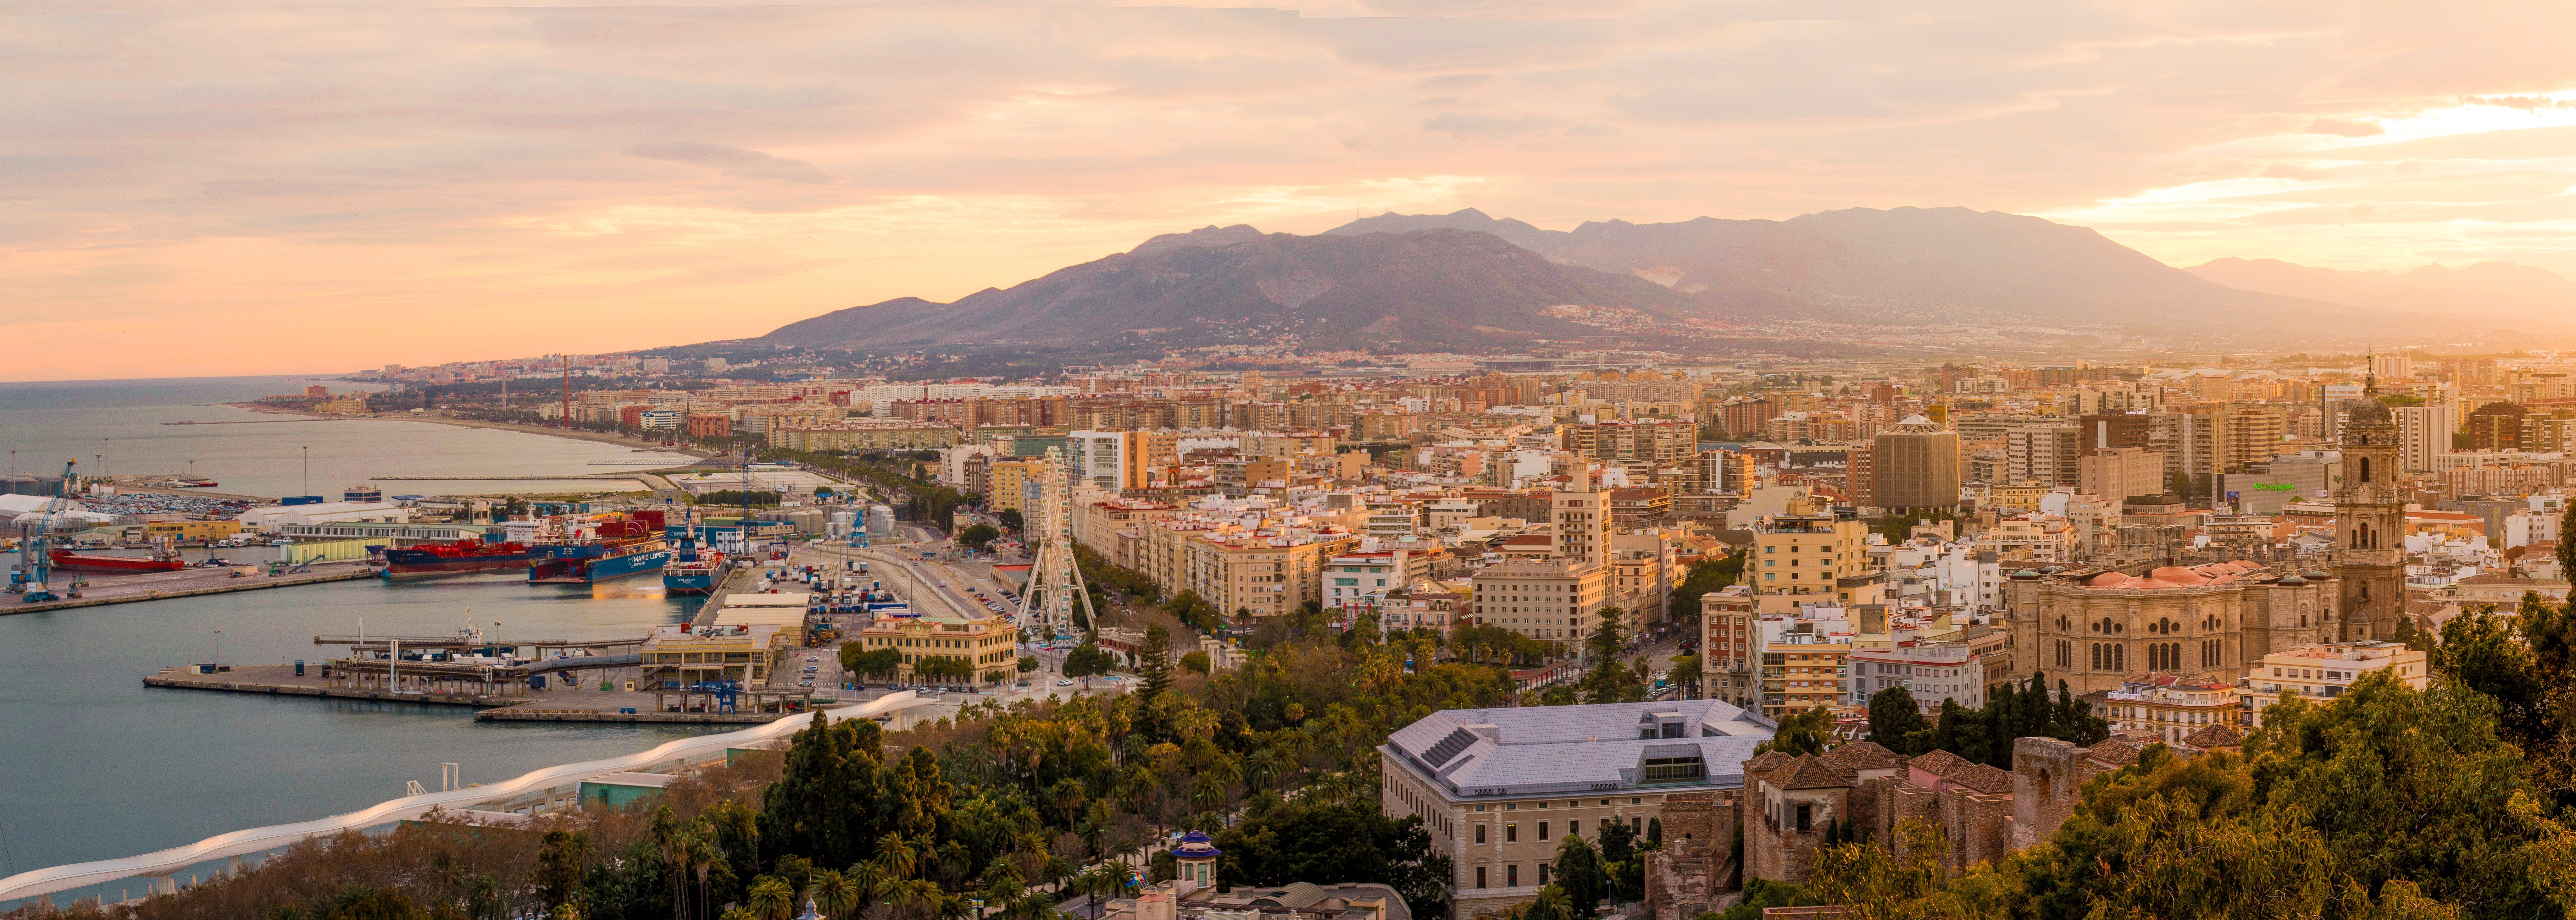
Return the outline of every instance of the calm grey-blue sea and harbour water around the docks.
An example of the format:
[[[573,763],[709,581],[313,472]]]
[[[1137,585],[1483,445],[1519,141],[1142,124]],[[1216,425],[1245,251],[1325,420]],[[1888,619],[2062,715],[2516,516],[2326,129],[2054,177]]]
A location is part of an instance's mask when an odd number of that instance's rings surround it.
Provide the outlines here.
[[[193,472],[216,479],[214,492],[330,500],[389,474],[546,482],[688,461],[407,420],[276,423],[278,415],[224,405],[307,384],[355,389],[296,376],[0,384],[0,448],[18,474],[59,474],[77,459],[85,472]],[[165,425],[180,420],[193,425]],[[379,484],[386,495],[407,492],[399,482]],[[255,551],[224,554],[242,562]],[[160,667],[209,657],[322,660],[345,649],[314,647],[317,634],[361,626],[440,637],[471,624],[502,642],[636,637],[685,621],[701,603],[662,595],[652,577],[580,588],[451,575],[0,616],[0,879],[353,812],[402,796],[407,781],[438,789],[440,763],[459,763],[469,783],[489,783],[714,732],[477,724],[461,706],[144,688],[142,678]],[[142,892],[134,881],[70,894],[116,899],[121,886]]]

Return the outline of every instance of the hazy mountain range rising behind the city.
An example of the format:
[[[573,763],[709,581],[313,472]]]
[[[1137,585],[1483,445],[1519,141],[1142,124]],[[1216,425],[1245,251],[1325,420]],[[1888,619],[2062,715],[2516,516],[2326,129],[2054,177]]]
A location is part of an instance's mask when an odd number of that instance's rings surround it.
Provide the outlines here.
[[[1463,209],[1381,214],[1311,237],[1247,224],[1159,235],[956,304],[904,296],[791,322],[762,340],[1486,348],[1814,320],[2329,343],[2421,335],[2424,312],[2496,299],[2535,312],[2576,304],[2568,294],[2576,283],[2504,263],[2403,276],[2275,260],[2184,271],[2087,227],[1971,209],[1613,219],[1571,232]],[[2548,314],[2550,327],[2576,332],[2561,317]]]

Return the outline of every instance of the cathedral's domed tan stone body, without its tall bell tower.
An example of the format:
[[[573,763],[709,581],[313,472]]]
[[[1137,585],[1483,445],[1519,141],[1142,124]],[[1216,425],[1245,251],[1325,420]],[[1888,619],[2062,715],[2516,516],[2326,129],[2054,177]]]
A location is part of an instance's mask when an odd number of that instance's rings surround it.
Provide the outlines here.
[[[2331,639],[2339,590],[2334,572],[2254,562],[2022,570],[2004,582],[2012,678],[2040,670],[2076,693],[2159,670],[2233,683],[2264,655]]]

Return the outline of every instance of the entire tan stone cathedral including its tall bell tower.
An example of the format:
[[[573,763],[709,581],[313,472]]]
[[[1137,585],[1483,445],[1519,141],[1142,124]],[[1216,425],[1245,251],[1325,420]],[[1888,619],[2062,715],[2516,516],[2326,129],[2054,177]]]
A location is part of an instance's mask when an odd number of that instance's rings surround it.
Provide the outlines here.
[[[2334,551],[2285,564],[2146,562],[2020,570],[2004,582],[2014,680],[2032,670],[2076,693],[2148,673],[2246,678],[2269,652],[2391,639],[2406,608],[2406,497],[2398,425],[2378,387],[2344,420]],[[1989,675],[2002,683],[2002,675]]]

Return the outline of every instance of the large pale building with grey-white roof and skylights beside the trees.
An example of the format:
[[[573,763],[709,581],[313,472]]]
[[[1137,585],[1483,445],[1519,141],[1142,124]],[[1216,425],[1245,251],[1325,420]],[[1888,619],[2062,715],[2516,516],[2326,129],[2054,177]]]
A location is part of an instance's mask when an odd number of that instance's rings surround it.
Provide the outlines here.
[[[1419,817],[1455,868],[1461,917],[1528,902],[1556,845],[1636,832],[1669,796],[1744,789],[1775,722],[1721,701],[1448,709],[1378,745],[1381,807]]]

